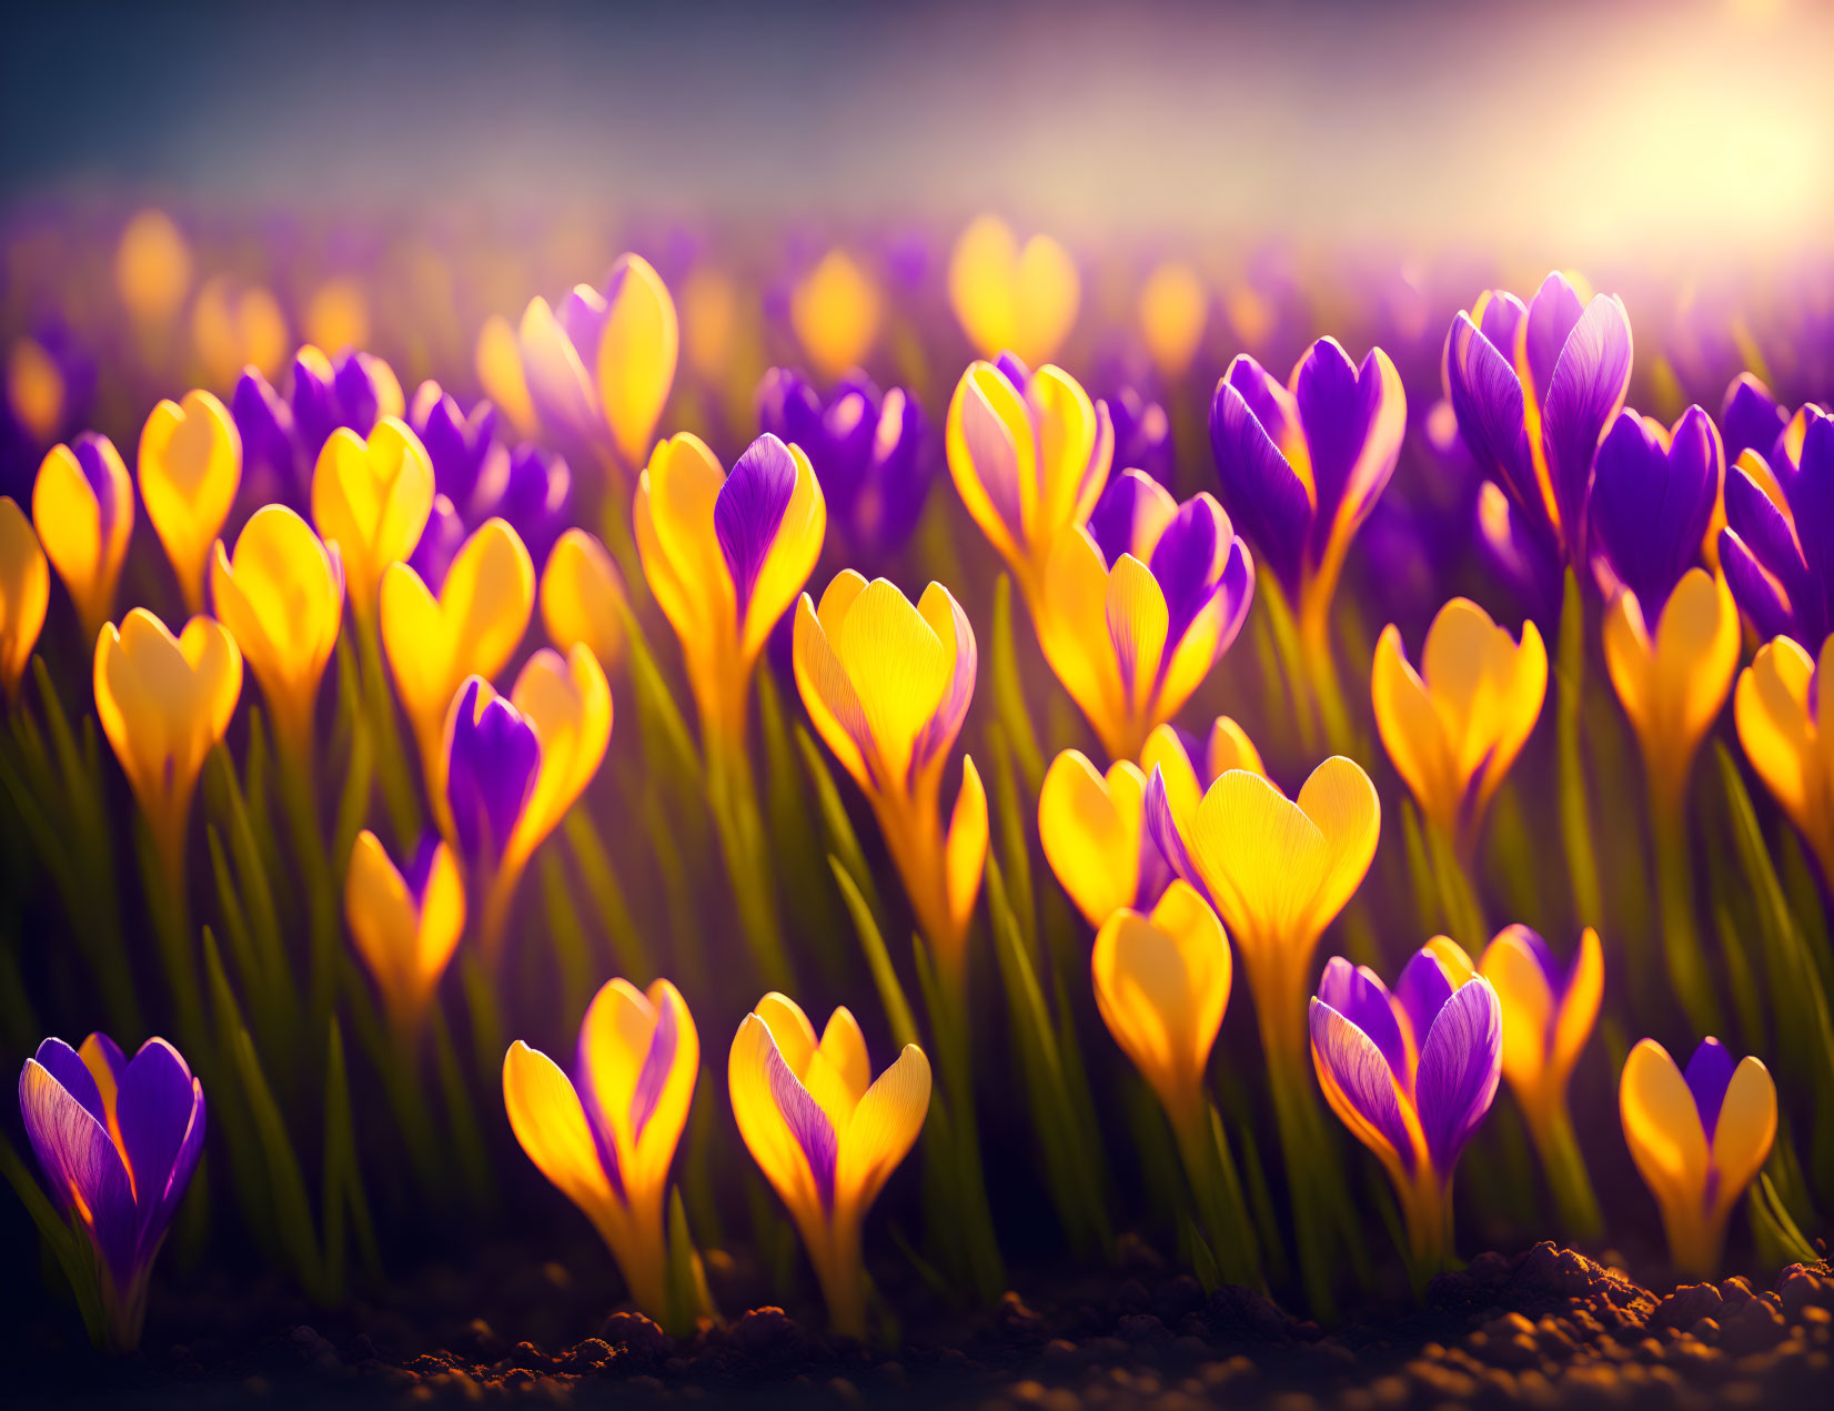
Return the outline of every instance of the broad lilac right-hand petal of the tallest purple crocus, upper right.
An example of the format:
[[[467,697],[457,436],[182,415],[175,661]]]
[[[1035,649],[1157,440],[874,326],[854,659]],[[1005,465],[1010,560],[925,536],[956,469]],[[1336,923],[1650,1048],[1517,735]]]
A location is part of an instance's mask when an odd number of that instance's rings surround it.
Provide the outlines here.
[[[1630,319],[1623,305],[1599,294],[1561,349],[1541,413],[1553,499],[1568,558],[1585,556],[1585,508],[1592,490],[1592,457],[1605,426],[1630,385]]]

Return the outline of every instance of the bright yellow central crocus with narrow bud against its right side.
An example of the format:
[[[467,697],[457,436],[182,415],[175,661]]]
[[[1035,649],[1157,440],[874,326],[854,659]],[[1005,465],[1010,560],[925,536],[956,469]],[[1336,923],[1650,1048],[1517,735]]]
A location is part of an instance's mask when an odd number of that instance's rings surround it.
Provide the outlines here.
[[[836,574],[796,607],[796,686],[816,732],[866,793],[917,921],[959,983],[987,864],[987,791],[963,756],[941,820],[943,767],[974,699],[974,629],[930,583],[913,607],[884,578]]]

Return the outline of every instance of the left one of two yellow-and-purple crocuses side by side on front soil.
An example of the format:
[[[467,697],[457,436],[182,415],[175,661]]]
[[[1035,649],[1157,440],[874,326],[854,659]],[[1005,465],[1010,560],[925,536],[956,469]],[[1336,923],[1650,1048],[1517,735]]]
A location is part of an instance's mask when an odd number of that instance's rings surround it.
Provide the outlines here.
[[[680,991],[611,980],[585,1011],[572,1077],[517,1040],[503,1103],[528,1160],[605,1240],[640,1308],[691,1323],[669,1294],[664,1198],[701,1072],[701,1035]]]

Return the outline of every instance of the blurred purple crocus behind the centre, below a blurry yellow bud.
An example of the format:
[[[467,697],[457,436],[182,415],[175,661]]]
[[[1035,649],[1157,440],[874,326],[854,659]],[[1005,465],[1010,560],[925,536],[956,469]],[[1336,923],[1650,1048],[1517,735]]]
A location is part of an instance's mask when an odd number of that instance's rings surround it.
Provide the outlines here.
[[[880,393],[864,372],[849,372],[823,398],[790,369],[772,367],[757,383],[757,426],[809,457],[851,549],[882,560],[904,547],[935,481],[915,396],[902,387]]]

